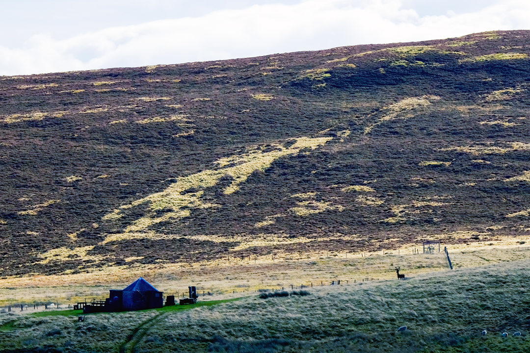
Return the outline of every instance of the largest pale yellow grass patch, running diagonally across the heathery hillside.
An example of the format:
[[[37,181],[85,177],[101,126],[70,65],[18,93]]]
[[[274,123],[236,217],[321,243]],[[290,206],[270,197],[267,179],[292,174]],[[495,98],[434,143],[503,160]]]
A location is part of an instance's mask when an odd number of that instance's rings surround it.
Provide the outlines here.
[[[239,185],[254,173],[254,171],[264,171],[270,167],[273,161],[280,157],[296,155],[306,148],[315,149],[329,140],[331,140],[331,138],[301,137],[296,139],[296,142],[288,148],[281,144],[277,144],[274,150],[263,152],[266,147],[262,146],[256,147],[242,155],[221,158],[215,162],[215,164],[219,166],[219,169],[204,170],[200,173],[179,177],[176,179],[175,183],[172,183],[164,191],[154,193],[128,205],[121,206],[120,208],[123,209],[148,203],[149,209],[152,210],[151,213],[136,220],[132,225],[127,227],[125,232],[139,232],[160,222],[184,218],[189,216],[190,209],[193,208],[204,209],[208,207],[217,207],[218,205],[203,203],[201,201],[202,194],[204,194],[202,189],[213,187],[218,183],[220,178],[230,176],[233,178],[233,181],[224,189],[224,193],[231,194],[237,191]],[[185,193],[188,189],[198,189],[198,191]],[[186,207],[186,209],[182,211],[184,207]],[[156,211],[167,209],[171,211],[165,213],[163,216],[155,216]],[[114,210],[105,215],[103,219],[117,219],[120,217],[121,211]]]

